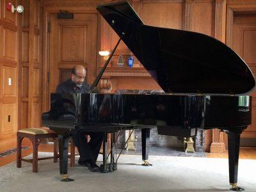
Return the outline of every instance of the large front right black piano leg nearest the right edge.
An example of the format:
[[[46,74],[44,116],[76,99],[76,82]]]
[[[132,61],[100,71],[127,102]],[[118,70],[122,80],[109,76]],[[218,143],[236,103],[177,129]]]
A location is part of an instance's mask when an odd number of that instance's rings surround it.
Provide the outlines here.
[[[229,182],[231,191],[244,191],[237,186],[238,159],[241,132],[227,132],[228,134],[228,165],[229,165]]]

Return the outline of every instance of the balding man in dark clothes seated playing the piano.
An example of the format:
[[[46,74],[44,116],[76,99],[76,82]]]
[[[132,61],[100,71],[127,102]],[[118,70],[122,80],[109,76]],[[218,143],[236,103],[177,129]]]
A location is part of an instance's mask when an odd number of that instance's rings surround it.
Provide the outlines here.
[[[86,70],[81,65],[72,68],[71,78],[60,83],[56,88],[56,93],[88,93],[90,85],[84,81]],[[90,141],[87,141],[86,135],[90,135]],[[72,138],[78,149],[80,158],[78,164],[86,166],[91,172],[100,170],[96,164],[102,143],[102,132],[74,132]]]

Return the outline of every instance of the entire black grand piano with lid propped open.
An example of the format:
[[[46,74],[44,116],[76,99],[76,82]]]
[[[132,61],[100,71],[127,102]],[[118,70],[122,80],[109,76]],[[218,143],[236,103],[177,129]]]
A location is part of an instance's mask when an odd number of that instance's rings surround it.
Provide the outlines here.
[[[251,124],[255,79],[246,63],[222,42],[211,36],[143,24],[126,1],[103,4],[97,10],[133,52],[164,93],[51,94],[51,110],[43,124],[58,133],[60,173],[67,177],[68,137],[72,131],[104,132],[102,172],[116,170],[113,150],[108,154],[108,132],[141,129],[142,159],[149,165],[150,126],[159,134],[195,136],[196,129],[218,128],[228,134],[229,177],[237,187],[240,134]],[[111,136],[111,149],[115,134]],[[110,163],[108,161],[110,156]]]

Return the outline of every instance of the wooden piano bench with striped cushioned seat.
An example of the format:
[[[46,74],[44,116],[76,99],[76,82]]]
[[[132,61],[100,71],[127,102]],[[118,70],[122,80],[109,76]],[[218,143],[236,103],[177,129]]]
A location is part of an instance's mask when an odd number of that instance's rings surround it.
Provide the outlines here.
[[[29,138],[33,145],[33,159],[22,159],[21,147],[23,138]],[[54,141],[54,155],[53,157],[38,158],[38,146],[45,138],[53,138]],[[17,131],[17,168],[21,167],[21,161],[26,161],[33,164],[33,172],[38,172],[38,161],[44,159],[53,159],[54,163],[58,162],[58,135],[47,127],[20,129]]]

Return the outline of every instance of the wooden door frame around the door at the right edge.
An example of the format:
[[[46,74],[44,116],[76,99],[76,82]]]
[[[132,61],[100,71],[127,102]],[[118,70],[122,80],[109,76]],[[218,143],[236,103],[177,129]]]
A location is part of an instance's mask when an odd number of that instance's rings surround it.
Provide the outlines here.
[[[239,15],[246,15],[246,13],[256,13],[256,4],[252,2],[234,2],[230,1],[230,4],[227,4],[227,22],[226,22],[226,45],[228,47],[232,47],[232,38],[233,38],[233,26],[234,26],[234,17],[236,13]],[[254,103],[256,103],[256,99],[253,99]],[[255,104],[252,108],[256,108]],[[225,145],[227,146],[227,135],[224,138]]]

